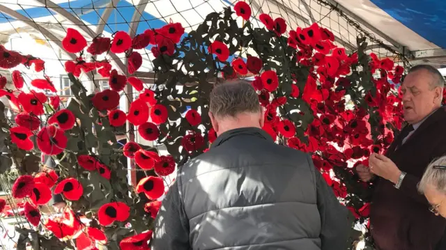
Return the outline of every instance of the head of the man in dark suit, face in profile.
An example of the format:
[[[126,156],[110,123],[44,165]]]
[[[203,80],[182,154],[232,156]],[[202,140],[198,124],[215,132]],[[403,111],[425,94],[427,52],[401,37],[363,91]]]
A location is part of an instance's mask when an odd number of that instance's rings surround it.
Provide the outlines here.
[[[404,119],[415,124],[441,106],[445,79],[431,65],[410,68],[401,85]]]

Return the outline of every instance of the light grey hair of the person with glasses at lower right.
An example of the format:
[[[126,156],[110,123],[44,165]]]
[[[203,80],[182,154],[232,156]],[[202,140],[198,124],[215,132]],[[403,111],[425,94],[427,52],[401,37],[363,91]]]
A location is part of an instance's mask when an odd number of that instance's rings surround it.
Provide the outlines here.
[[[438,166],[444,166],[444,168]],[[438,192],[446,194],[446,155],[434,160],[427,166],[418,184],[418,191],[424,194],[428,185],[437,189]]]

